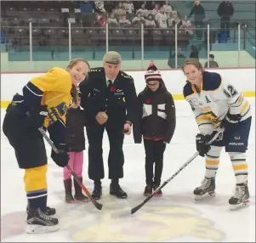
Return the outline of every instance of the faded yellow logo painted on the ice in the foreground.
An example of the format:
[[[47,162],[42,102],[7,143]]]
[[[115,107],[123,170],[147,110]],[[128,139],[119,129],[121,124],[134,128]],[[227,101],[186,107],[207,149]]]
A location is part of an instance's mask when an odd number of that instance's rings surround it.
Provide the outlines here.
[[[62,230],[70,232],[71,240],[77,242],[164,242],[181,235],[207,241],[224,240],[223,232],[191,207],[151,203],[131,215],[130,206],[124,206],[122,201],[105,197],[104,203],[105,210],[101,212],[92,211],[91,206],[87,209],[76,204],[74,210],[69,207],[61,218]]]

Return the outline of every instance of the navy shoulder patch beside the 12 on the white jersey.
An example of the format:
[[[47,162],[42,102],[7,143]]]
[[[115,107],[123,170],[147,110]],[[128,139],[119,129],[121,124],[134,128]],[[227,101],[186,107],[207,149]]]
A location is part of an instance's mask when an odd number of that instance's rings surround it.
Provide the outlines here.
[[[218,89],[221,84],[221,76],[217,72],[204,71],[202,80],[202,89],[205,91]]]

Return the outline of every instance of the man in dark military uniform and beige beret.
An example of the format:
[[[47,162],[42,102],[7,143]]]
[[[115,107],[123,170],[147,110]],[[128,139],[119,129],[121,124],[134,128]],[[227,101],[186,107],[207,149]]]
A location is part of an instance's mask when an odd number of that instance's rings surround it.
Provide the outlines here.
[[[119,185],[123,177],[124,156],[122,144],[124,134],[131,133],[135,106],[136,90],[134,79],[120,71],[121,56],[108,52],[103,58],[103,67],[91,69],[88,78],[80,84],[81,105],[88,116],[88,177],[94,180],[95,199],[100,199],[104,178],[102,157],[102,138],[106,130],[110,151],[108,156],[108,177],[111,179],[110,194],[117,198],[127,198]]]

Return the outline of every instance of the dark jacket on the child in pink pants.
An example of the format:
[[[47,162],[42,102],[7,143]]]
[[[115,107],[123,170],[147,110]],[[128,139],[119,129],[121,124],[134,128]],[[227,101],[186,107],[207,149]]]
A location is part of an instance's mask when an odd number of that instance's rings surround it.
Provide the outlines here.
[[[66,118],[67,136],[65,143],[69,146],[71,152],[85,150],[84,127],[87,125],[84,110],[69,108]]]

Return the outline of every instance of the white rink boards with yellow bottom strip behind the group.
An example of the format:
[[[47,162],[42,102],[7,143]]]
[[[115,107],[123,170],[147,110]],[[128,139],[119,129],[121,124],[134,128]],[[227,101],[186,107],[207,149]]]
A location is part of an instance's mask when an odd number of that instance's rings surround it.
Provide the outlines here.
[[[255,68],[248,69],[219,69],[209,70],[218,72],[223,78],[231,82],[238,90],[241,90],[247,97],[255,97]],[[134,77],[137,93],[145,88],[145,71],[126,71]],[[173,94],[174,99],[184,99],[182,95],[185,85],[185,76],[182,71],[161,71],[162,78]],[[14,93],[20,92],[23,86],[32,77],[43,73],[2,73],[1,74],[1,108],[7,107]]]

